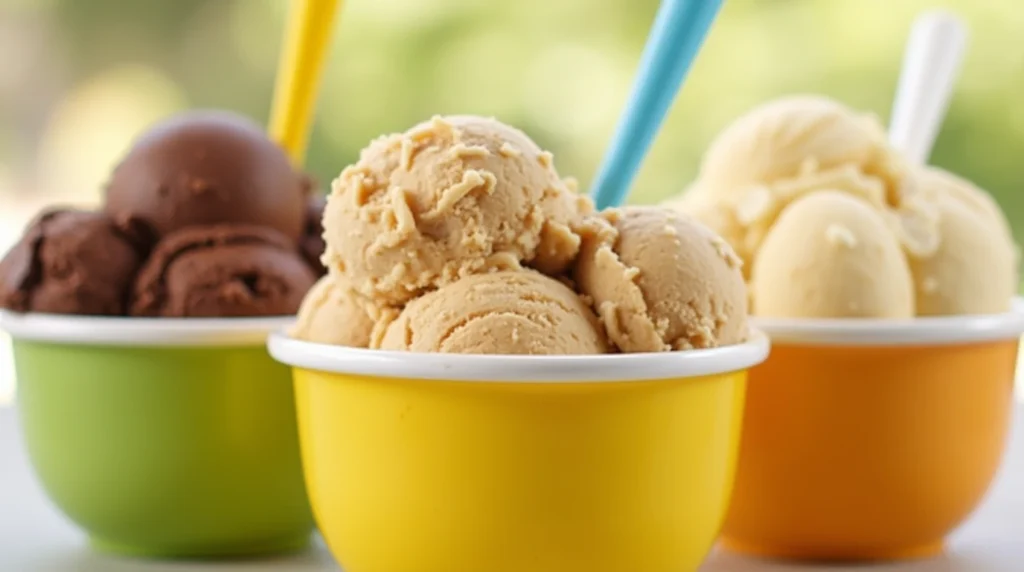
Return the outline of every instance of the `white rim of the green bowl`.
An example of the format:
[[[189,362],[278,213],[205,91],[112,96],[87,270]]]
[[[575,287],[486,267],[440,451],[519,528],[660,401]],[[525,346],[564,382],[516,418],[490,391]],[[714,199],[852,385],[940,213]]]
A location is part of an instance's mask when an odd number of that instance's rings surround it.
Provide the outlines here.
[[[260,346],[295,316],[258,318],[132,318],[19,314],[0,310],[0,331],[15,340],[77,346]]]

